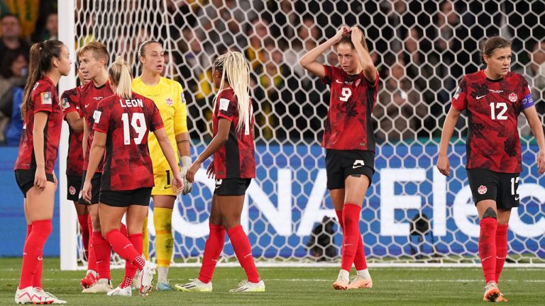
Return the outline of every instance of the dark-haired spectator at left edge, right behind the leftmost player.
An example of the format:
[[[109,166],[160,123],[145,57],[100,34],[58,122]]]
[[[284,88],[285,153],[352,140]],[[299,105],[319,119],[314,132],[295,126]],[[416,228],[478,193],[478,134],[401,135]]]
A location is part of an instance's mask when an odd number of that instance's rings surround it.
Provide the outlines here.
[[[28,62],[20,50],[8,50],[0,59],[0,143],[13,113],[13,91],[25,85]]]

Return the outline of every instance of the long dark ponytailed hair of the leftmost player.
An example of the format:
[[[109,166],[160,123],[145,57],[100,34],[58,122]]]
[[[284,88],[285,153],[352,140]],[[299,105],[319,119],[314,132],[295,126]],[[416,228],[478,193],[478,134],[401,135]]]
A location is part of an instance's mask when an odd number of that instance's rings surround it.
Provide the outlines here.
[[[60,59],[60,52],[64,44],[59,40],[48,40],[32,45],[30,60],[28,62],[28,78],[26,79],[25,94],[21,105],[21,117],[26,117],[28,103],[31,101],[32,90],[36,82],[52,68],[53,57]]]

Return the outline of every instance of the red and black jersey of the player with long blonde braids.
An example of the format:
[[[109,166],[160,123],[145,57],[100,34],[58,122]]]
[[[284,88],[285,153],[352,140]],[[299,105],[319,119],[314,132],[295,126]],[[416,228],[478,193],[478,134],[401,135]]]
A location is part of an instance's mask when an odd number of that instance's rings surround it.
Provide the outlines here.
[[[233,89],[224,89],[216,97],[212,125],[214,136],[218,134],[219,119],[231,121],[229,138],[214,153],[214,172],[216,179],[252,179],[255,178],[253,107],[250,100],[248,118],[240,131],[237,130],[238,102]]]

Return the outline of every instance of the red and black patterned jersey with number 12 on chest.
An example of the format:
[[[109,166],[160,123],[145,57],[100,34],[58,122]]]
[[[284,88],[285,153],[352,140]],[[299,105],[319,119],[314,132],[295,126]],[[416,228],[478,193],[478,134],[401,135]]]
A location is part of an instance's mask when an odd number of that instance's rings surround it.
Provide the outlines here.
[[[468,74],[456,89],[452,106],[468,113],[467,169],[522,171],[517,118],[534,106],[524,77],[508,72],[502,79],[491,80],[483,70]]]

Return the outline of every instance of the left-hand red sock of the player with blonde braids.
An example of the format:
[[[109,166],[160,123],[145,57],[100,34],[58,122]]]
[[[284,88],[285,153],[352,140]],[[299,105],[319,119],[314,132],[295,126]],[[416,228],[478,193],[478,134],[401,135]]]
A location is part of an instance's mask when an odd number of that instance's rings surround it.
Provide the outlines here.
[[[209,283],[214,275],[214,268],[218,262],[221,250],[224,249],[225,243],[225,228],[221,225],[210,224],[210,234],[207,239],[207,244],[204,246],[204,255],[202,256],[201,271],[199,272],[199,280],[203,283]]]

